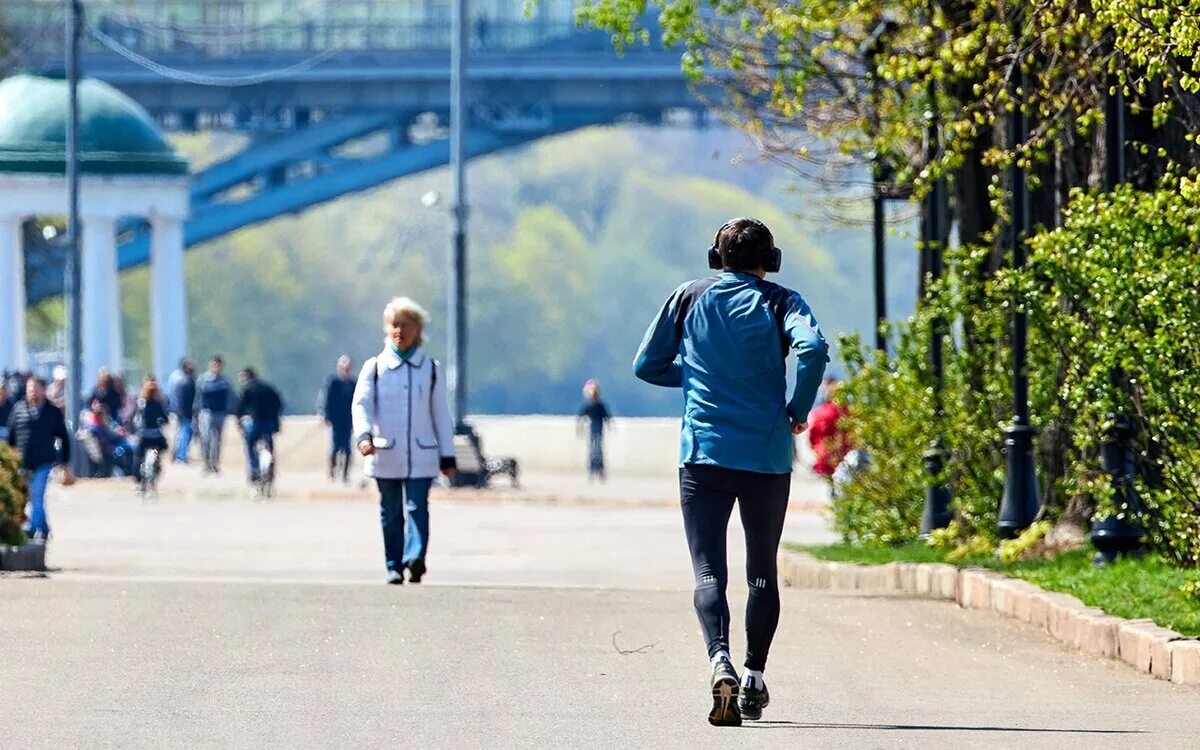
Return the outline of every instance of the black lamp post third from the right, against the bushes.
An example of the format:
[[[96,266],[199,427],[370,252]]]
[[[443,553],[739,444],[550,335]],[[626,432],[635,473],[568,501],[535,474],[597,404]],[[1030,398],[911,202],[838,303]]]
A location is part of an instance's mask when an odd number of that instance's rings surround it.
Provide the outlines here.
[[[929,83],[929,113],[926,114],[925,163],[932,166],[938,157],[941,118],[937,112],[937,85]],[[929,257],[930,281],[942,277],[942,240],[944,223],[946,182],[937,178],[925,198],[925,252]],[[934,439],[925,451],[925,508],[920,518],[920,533],[928,535],[934,529],[950,524],[950,488],[942,474],[946,467],[946,448],[942,444],[942,389],[946,383],[943,371],[944,326],[941,317],[932,320],[929,337],[929,365],[934,374]]]

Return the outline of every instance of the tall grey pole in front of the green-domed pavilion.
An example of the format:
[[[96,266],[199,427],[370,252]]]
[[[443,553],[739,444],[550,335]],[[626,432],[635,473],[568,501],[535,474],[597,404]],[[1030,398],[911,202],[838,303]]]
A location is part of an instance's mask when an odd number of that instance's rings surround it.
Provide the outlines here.
[[[83,274],[79,253],[79,40],[83,0],[66,1],[67,48],[67,230],[64,290],[67,306],[67,432],[74,434],[83,406]],[[79,451],[72,451],[74,456]]]

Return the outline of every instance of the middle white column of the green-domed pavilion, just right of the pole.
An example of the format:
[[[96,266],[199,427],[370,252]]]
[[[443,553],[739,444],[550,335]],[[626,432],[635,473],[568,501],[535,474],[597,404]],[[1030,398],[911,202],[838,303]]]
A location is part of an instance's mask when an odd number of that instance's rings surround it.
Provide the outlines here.
[[[121,294],[116,276],[116,220],[83,217],[83,383],[96,371],[121,368]]]

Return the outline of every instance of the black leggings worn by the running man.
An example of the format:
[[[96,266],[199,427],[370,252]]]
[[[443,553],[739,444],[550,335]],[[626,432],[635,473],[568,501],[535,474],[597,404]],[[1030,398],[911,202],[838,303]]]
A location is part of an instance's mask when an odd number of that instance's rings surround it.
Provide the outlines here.
[[[779,625],[779,581],[775,556],[787,515],[791,474],[758,474],[697,463],[679,469],[679,498],[696,574],[696,614],[708,641],[708,655],[730,649],[730,574],[726,536],[733,502],[738,502],[746,538],[748,670],[763,670]]]

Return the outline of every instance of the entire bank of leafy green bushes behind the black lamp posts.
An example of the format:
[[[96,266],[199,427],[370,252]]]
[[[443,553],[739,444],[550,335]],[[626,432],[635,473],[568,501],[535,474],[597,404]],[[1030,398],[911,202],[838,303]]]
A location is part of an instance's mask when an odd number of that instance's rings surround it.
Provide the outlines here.
[[[985,272],[986,248],[947,253],[947,276],[899,336],[895,356],[844,344],[853,440],[871,468],[834,503],[847,540],[899,545],[918,533],[940,436],[960,542],[996,541],[1003,430],[1012,415],[1013,300],[1030,317],[1028,372],[1039,430],[1043,517],[1112,508],[1099,446],[1116,413],[1141,430],[1138,490],[1152,546],[1200,565],[1200,205],[1175,190],[1072,197],[1063,226],[1034,236],[1022,274]],[[930,320],[949,320],[943,416],[935,420]],[[1117,373],[1118,377],[1112,377]],[[1068,510],[1069,509],[1069,510]],[[1082,509],[1082,511],[1080,511]],[[1043,527],[1044,528],[1044,527]]]

